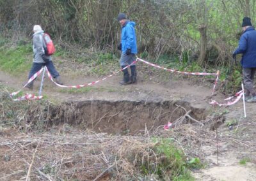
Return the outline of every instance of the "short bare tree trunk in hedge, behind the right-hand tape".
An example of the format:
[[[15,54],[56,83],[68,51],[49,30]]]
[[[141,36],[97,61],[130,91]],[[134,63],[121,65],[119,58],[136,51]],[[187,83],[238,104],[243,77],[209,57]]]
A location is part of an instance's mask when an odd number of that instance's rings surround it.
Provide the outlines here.
[[[204,66],[205,57],[206,57],[206,50],[207,50],[207,35],[206,35],[206,25],[201,25],[199,27],[200,32],[200,56],[198,62],[201,66]]]

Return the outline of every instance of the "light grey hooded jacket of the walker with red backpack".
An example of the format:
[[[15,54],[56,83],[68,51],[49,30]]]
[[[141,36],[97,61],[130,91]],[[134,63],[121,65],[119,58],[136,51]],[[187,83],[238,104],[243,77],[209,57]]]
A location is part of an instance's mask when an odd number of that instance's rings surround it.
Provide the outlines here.
[[[43,41],[44,31],[37,31],[33,34],[33,52],[34,52],[34,60],[33,62],[38,64],[43,64],[47,61],[51,61],[52,57],[45,55],[44,47],[45,42]]]

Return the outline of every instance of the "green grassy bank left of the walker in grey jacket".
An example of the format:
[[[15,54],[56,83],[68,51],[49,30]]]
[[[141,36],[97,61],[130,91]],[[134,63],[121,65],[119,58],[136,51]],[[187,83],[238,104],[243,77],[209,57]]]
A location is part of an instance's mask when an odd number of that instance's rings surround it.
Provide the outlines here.
[[[0,48],[0,68],[14,76],[28,72],[32,64],[31,45]]]

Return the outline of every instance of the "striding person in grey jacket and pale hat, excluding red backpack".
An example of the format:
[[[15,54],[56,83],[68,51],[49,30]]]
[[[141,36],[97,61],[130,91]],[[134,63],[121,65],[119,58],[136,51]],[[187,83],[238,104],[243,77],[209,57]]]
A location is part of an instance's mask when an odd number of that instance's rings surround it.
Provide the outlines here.
[[[40,25],[34,25],[33,27],[33,52],[34,60],[33,65],[29,71],[28,78],[31,78],[37,71],[39,71],[43,66],[46,66],[52,77],[55,78],[56,82],[63,85],[61,82],[60,74],[56,71],[51,55],[45,55],[44,47],[45,42],[43,40],[44,31]],[[33,89],[33,82],[26,85],[28,89]]]

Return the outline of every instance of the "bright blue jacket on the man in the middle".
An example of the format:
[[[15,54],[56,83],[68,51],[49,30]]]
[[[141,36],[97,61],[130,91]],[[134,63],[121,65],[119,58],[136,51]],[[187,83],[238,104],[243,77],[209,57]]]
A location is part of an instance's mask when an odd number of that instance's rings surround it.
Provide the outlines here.
[[[130,22],[127,20],[125,24],[122,26],[122,52],[125,54],[126,50],[131,48],[132,54],[137,54],[137,38],[135,32],[135,22]]]

